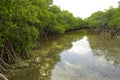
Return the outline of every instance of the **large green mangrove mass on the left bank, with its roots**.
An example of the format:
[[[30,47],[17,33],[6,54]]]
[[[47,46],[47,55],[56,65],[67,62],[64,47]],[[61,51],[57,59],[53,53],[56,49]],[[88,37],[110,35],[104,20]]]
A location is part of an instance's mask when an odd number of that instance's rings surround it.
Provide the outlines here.
[[[36,40],[84,24],[52,0],[0,0],[0,72],[29,57]],[[18,58],[19,56],[19,58]]]

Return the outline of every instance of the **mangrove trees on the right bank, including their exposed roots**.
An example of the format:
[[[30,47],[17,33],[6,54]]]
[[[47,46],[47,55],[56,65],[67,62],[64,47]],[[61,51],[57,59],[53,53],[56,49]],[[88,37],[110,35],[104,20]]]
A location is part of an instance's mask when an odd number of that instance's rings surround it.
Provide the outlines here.
[[[108,34],[120,38],[120,7],[110,7],[104,11],[93,13],[86,20],[87,26],[97,34]]]

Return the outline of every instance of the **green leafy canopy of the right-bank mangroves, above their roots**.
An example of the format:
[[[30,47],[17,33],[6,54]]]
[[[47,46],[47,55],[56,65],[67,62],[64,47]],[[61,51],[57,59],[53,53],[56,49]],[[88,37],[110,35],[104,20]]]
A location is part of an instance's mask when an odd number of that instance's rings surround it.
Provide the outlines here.
[[[90,28],[120,28],[120,9],[110,7],[105,11],[97,11],[87,18],[87,22]]]

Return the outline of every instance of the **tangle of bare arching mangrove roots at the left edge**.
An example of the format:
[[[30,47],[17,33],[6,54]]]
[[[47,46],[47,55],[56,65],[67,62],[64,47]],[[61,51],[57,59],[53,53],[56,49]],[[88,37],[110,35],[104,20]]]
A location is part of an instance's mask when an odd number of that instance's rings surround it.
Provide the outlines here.
[[[0,73],[7,72],[12,68],[10,64],[18,63],[20,61],[20,57],[26,59],[29,58],[30,55],[25,51],[21,51],[21,53],[18,54],[11,41],[6,39],[3,46],[0,47]]]

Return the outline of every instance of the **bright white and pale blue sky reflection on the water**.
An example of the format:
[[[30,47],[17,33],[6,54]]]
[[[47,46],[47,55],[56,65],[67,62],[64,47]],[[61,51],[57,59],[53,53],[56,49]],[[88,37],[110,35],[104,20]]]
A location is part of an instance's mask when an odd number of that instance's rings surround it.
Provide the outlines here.
[[[107,61],[104,54],[109,50],[95,50],[87,36],[72,42],[72,47],[60,54],[61,61],[52,70],[51,80],[119,80],[120,66],[114,66],[113,60]]]

